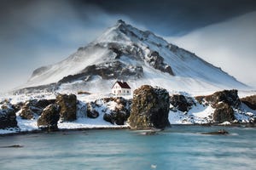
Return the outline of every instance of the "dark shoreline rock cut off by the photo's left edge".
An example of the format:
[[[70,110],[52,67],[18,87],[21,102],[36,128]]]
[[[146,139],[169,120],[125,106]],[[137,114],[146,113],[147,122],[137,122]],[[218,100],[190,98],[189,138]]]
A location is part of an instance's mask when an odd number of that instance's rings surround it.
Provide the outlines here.
[[[4,104],[0,110],[0,129],[9,127],[18,127],[15,115],[15,109],[10,104]]]

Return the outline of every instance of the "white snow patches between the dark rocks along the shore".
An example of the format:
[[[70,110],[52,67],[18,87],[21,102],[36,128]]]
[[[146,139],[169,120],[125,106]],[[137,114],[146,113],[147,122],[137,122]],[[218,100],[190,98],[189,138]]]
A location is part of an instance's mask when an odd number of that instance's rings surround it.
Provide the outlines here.
[[[191,97],[191,94],[185,92],[176,92],[172,91],[170,94],[183,94]],[[256,94],[255,91],[242,91],[241,96]],[[114,107],[117,105],[113,101],[108,103],[103,103],[102,99],[113,97],[112,94],[77,94],[79,100],[78,109],[77,109],[77,120],[74,122],[59,122],[58,127],[60,129],[77,129],[77,128],[97,128],[97,127],[129,127],[128,124],[124,126],[113,125],[110,122],[105,122],[103,120],[103,115],[105,113],[113,111]],[[132,95],[122,96],[125,99],[132,99]],[[19,103],[20,101],[26,101],[29,99],[55,99],[55,94],[35,94],[35,95],[13,95],[13,96],[2,96],[0,101],[3,99],[9,99],[11,104]],[[101,105],[97,111],[99,116],[96,119],[89,118],[84,115],[84,111],[87,106],[85,103],[90,101],[97,101]],[[0,105],[1,107],[1,105]],[[212,122],[212,113],[214,109],[210,105],[200,105],[196,103],[188,112],[182,111],[170,111],[169,112],[169,121],[171,124],[204,124]],[[249,122],[250,116],[256,115],[256,111],[251,110],[247,105],[241,104],[239,109],[235,110],[236,120],[239,122]],[[9,129],[9,130],[0,130],[0,133],[17,133],[17,132],[26,132],[32,130],[38,130],[37,119],[24,120],[19,116],[19,112],[16,113],[17,122],[20,129]],[[228,125],[230,122],[224,122],[225,125]]]

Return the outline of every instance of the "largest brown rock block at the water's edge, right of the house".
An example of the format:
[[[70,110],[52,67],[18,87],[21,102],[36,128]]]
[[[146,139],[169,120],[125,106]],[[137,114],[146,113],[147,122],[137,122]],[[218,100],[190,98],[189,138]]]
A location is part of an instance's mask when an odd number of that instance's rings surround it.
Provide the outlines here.
[[[131,116],[128,122],[131,128],[165,128],[170,107],[169,93],[163,88],[143,85],[133,93]]]

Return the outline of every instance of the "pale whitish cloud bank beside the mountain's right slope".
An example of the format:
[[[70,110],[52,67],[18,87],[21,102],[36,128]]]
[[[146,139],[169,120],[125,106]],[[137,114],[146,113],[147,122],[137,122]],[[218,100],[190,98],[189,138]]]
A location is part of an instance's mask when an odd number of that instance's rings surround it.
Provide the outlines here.
[[[256,11],[166,39],[256,87],[255,28]]]

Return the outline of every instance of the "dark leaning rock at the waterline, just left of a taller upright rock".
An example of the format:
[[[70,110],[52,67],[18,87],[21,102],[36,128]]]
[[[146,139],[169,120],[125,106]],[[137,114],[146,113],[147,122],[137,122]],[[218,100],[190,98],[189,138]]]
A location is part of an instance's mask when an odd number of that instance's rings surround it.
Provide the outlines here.
[[[58,130],[58,121],[60,118],[59,108],[57,105],[48,105],[41,116],[38,118],[38,127],[47,130],[55,131]]]

